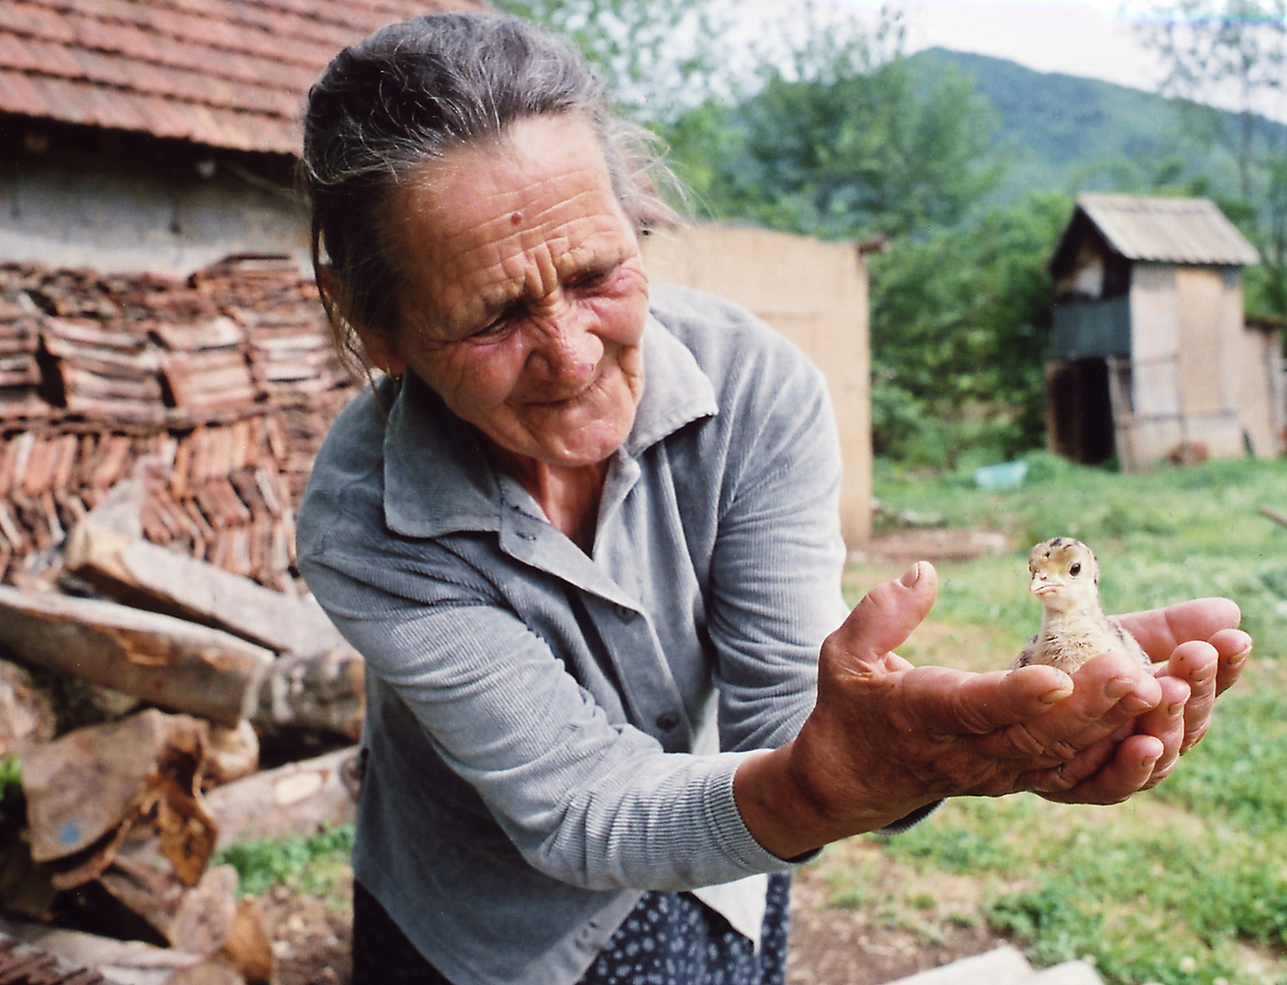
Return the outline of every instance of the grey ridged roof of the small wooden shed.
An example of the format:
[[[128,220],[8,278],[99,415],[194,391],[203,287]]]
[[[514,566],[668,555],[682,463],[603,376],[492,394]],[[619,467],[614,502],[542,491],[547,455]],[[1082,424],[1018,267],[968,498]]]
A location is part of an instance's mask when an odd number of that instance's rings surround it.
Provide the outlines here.
[[[1158,264],[1259,264],[1260,253],[1206,198],[1088,194],[1077,208],[1127,260]]]

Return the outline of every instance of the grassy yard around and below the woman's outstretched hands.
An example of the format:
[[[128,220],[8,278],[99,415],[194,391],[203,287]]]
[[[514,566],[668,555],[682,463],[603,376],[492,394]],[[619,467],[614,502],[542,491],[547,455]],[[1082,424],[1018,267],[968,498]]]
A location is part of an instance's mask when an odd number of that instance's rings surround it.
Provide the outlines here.
[[[1211,733],[1166,783],[1115,808],[963,799],[900,837],[855,838],[816,863],[834,905],[874,907],[932,937],[987,921],[1039,964],[1081,957],[1109,982],[1287,982],[1287,464],[1210,463],[1120,476],[1036,456],[1019,490],[878,472],[884,522],[1010,534],[1014,553],[941,563],[941,595],[902,653],[1005,666],[1035,631],[1026,552],[1072,535],[1103,568],[1109,611],[1223,594],[1256,656]],[[853,566],[861,592],[891,575]],[[968,889],[963,890],[963,885]]]

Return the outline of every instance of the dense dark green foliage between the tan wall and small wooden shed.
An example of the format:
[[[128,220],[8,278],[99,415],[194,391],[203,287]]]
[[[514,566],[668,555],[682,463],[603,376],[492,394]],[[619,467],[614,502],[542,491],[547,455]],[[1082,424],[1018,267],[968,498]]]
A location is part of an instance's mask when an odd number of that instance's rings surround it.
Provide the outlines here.
[[[878,454],[954,468],[1040,446],[1058,193],[896,243],[871,265]]]

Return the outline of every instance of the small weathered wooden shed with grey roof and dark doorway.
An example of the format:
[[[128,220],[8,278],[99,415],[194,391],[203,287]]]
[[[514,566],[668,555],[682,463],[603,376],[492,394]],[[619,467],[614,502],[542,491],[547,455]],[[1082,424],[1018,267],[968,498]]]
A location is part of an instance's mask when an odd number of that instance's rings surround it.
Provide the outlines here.
[[[1081,195],[1050,260],[1051,450],[1127,472],[1282,454],[1279,334],[1242,312],[1259,262],[1207,199]]]

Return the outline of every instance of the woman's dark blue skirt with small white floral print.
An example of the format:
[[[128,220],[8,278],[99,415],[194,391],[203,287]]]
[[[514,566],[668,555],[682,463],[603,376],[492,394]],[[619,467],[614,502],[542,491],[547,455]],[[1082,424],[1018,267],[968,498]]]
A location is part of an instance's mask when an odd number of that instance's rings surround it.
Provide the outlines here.
[[[757,952],[687,892],[645,892],[578,985],[784,985],[790,876],[768,877]],[[353,887],[353,985],[450,985],[360,883]]]

